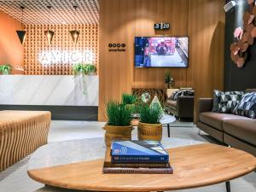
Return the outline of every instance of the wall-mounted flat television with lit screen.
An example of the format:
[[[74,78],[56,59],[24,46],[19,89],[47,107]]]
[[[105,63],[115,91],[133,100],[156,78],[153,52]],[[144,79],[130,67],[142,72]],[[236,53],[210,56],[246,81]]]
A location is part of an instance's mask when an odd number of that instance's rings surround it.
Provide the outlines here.
[[[135,67],[188,67],[188,37],[136,37]]]

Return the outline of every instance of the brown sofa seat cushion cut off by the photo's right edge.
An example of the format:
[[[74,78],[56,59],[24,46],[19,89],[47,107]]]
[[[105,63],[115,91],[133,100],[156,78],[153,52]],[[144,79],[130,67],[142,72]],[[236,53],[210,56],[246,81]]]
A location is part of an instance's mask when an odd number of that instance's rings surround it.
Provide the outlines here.
[[[256,146],[256,119],[229,119],[223,127],[230,136]]]

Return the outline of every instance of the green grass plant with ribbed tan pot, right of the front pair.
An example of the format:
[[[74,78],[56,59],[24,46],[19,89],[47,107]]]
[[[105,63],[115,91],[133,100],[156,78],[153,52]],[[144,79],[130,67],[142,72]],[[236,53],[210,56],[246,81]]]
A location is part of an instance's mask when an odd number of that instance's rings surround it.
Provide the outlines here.
[[[162,109],[154,106],[151,108],[148,105],[143,105],[140,108],[140,121],[137,125],[138,140],[154,140],[161,141],[162,139],[162,125],[160,118],[162,116]]]

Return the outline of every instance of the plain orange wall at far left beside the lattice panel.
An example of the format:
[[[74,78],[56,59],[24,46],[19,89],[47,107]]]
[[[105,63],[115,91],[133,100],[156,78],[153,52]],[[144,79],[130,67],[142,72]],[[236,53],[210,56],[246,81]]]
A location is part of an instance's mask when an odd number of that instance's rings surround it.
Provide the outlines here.
[[[15,70],[15,67],[24,68],[24,49],[16,33],[21,29],[20,21],[0,11],[0,23],[0,65],[9,64],[13,74],[22,74]]]

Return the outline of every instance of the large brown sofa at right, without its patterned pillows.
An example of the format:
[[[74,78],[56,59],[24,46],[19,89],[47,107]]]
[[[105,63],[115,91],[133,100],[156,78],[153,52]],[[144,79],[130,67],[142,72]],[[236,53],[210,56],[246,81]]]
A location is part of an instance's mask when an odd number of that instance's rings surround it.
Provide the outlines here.
[[[197,127],[221,143],[256,156],[256,119],[212,112],[212,98],[198,100]]]

